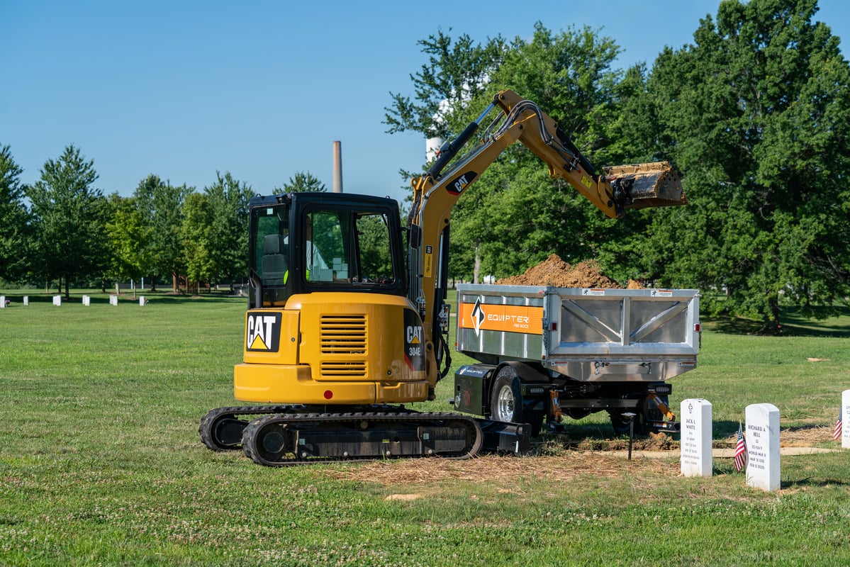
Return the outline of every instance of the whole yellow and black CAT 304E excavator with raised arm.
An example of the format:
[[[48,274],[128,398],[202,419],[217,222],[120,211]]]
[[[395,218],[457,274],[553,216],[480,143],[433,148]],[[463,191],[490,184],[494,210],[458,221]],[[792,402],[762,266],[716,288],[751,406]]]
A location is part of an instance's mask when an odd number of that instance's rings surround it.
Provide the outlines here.
[[[685,203],[666,162],[596,169],[536,104],[512,91],[412,181],[406,225],[388,198],[294,193],[250,201],[249,306],[235,397],[201,419],[214,451],[263,465],[521,451],[522,424],[412,411],[450,366],[445,303],[452,207],[522,142],[610,218]],[[461,150],[469,149],[462,154]],[[405,242],[406,235],[406,242]],[[406,252],[406,254],[405,254]]]

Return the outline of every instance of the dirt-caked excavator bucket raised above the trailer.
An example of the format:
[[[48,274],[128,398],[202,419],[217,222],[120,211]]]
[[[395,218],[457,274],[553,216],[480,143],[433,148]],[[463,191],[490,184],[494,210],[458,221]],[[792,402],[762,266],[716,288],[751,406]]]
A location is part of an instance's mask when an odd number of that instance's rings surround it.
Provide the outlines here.
[[[670,162],[637,163],[603,167],[605,177],[626,190],[626,208],[687,205],[682,179]]]

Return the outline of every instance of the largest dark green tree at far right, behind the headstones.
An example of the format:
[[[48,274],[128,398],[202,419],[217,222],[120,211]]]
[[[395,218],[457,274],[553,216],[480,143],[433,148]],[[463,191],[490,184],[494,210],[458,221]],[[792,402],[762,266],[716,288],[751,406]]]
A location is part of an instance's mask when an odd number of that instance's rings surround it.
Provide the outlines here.
[[[690,206],[643,247],[663,281],[716,288],[713,312],[779,332],[850,295],[850,66],[816,0],[724,0],[694,45],[655,61],[638,104],[647,145],[684,173]]]

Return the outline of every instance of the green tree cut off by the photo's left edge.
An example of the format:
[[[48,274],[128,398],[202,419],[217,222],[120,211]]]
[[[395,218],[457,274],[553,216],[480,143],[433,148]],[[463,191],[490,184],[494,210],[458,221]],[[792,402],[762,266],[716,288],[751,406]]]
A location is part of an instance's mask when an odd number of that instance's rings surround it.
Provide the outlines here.
[[[0,145],[0,278],[18,278],[26,268],[29,227],[21,173],[12,150]]]

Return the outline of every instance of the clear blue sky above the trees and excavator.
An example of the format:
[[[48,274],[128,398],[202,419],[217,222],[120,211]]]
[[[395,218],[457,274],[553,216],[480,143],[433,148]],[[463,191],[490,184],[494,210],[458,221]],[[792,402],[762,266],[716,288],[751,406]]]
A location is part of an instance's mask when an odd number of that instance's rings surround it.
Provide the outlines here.
[[[389,93],[413,94],[418,40],[528,38],[539,20],[601,28],[624,49],[617,66],[651,65],[718,4],[0,0],[0,145],[25,183],[73,144],[105,194],[129,196],[149,173],[201,190],[217,170],[269,194],[297,172],[330,190],[340,140],[344,190],[400,200],[399,169],[422,166],[425,141],[382,121]],[[850,36],[850,3],[819,6],[815,20]]]

